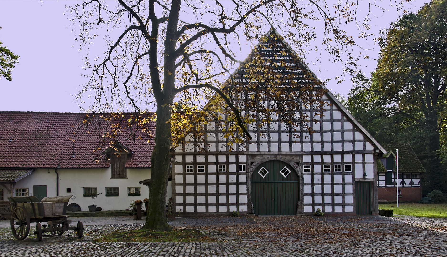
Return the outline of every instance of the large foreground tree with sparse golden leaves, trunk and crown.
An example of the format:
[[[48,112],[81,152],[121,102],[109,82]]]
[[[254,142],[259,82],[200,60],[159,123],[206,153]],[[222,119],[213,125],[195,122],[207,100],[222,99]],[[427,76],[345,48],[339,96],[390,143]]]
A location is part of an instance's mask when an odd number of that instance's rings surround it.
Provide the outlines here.
[[[200,127],[211,117],[232,122],[225,134],[229,144],[251,139],[246,124],[256,120],[257,126],[266,125],[272,112],[290,126],[300,125],[312,132],[308,122],[315,120],[313,117],[299,109],[289,111],[300,104],[311,106],[319,115],[324,108],[319,100],[322,82],[308,70],[304,60],[291,68],[285,61],[257,58],[262,44],[246,61],[237,60],[235,52],[244,42],[281,45],[269,42],[280,39],[277,33],[264,37],[274,27],[298,54],[304,54],[316,38],[315,28],[304,21],[321,20],[326,28],[322,48],[334,60],[342,61],[344,70],[352,71],[356,63],[348,46],[355,44],[354,37],[339,29],[339,25],[354,21],[355,12],[350,9],[355,5],[337,1],[329,6],[325,1],[311,0],[118,0],[117,4],[91,0],[70,9],[73,22],[80,25],[79,38],[84,47],[93,43],[99,29],[108,30],[108,35],[103,35],[109,47],[105,58],[97,64],[85,58],[85,67],[92,69],[92,74],[80,92],[80,102],[84,96],[93,97],[91,112],[130,110],[136,114],[128,119],[129,126],[147,122],[148,118],[140,118],[144,115],[139,113],[151,104],[156,107],[152,187],[143,229],[171,229],[164,215],[169,150],[186,133],[200,136]],[[368,21],[366,17],[359,27],[368,29]],[[116,30],[118,34],[114,34]],[[366,35],[364,31],[360,33],[360,37]],[[296,57],[287,51],[279,55],[288,54]],[[92,62],[97,59],[100,58]],[[231,70],[239,65],[244,68],[243,73],[232,74]],[[228,77],[227,83],[223,83]],[[247,83],[242,86],[240,79]],[[278,81],[289,85],[278,87]],[[267,100],[273,105],[266,104]],[[253,111],[257,113],[254,116]]]

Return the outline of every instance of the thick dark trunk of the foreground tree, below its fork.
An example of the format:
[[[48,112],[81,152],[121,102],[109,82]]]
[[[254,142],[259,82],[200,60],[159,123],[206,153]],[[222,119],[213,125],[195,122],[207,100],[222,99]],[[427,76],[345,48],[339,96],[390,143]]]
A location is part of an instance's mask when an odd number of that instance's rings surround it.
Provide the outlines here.
[[[149,194],[148,215],[141,229],[170,231],[166,222],[166,191],[169,177],[169,150],[171,148],[171,104],[157,104],[155,147],[152,152],[152,186]]]

